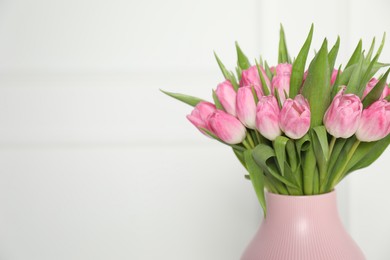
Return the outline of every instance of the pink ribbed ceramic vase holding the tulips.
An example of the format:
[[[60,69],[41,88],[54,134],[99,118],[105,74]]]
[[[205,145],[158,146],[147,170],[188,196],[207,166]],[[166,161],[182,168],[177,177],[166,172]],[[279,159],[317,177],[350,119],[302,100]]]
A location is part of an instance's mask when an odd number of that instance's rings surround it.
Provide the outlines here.
[[[313,196],[266,194],[267,217],[241,260],[362,260],[344,229],[336,193]]]

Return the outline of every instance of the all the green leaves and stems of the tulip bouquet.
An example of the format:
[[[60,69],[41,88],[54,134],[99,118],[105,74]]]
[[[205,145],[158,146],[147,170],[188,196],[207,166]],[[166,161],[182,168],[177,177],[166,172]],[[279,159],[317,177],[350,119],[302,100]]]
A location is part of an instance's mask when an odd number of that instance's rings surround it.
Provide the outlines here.
[[[330,51],[328,51],[327,39],[324,39],[321,48],[309,64],[306,80],[303,80],[312,37],[313,25],[298,56],[292,62],[281,26],[278,52],[278,63],[292,63],[290,89],[289,93],[285,93],[286,97],[294,98],[302,94],[310,104],[309,132],[299,140],[279,136],[271,142],[262,137],[258,131],[247,129],[247,138],[242,144],[227,144],[232,147],[234,154],[248,171],[249,175],[246,175],[246,178],[251,180],[264,214],[266,213],[265,188],[270,192],[285,195],[313,195],[329,192],[349,173],[373,163],[390,142],[389,136],[369,143],[360,143],[354,136],[348,139],[336,139],[330,136],[323,126],[324,114],[341,86],[346,86],[346,93],[353,93],[362,98],[369,80],[380,68],[389,65],[378,62],[385,35],[375,56],[373,56],[375,39],[367,54],[362,48],[362,41],[359,41],[347,65],[344,68],[339,67],[333,86],[330,79],[340,46],[339,38]],[[241,72],[248,69],[251,63],[237,43],[236,51],[237,75],[228,71],[219,57],[214,54],[224,78],[229,80],[237,90]],[[266,61],[260,58],[260,62],[256,61],[256,65],[258,68],[263,67],[272,80],[273,73]],[[271,86],[266,84],[260,69],[258,71],[263,92],[270,94]],[[390,69],[380,77],[372,91],[362,100],[364,108],[379,99],[389,72]],[[202,101],[188,95],[163,92],[191,106]],[[274,94],[279,99],[277,91]],[[217,108],[223,110],[214,91],[213,99]],[[257,99],[256,95],[255,99]],[[204,131],[211,138],[222,142],[212,133],[205,129]]]

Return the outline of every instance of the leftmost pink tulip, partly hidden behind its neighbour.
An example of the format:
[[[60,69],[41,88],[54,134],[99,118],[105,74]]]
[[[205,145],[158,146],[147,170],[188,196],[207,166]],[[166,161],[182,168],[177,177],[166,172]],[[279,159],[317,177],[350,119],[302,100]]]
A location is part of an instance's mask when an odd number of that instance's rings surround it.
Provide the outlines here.
[[[195,106],[194,110],[192,110],[190,115],[187,115],[187,119],[190,120],[190,122],[194,126],[196,126],[203,134],[205,134],[202,128],[211,131],[207,125],[207,119],[209,115],[216,110],[217,109],[214,104],[202,101]]]

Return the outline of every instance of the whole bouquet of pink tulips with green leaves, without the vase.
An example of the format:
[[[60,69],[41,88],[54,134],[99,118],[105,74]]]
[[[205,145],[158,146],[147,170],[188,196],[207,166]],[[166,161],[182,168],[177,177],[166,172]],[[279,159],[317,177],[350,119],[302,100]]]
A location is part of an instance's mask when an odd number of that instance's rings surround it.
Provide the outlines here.
[[[251,65],[236,43],[236,75],[215,55],[225,81],[213,90],[214,103],[163,91],[194,106],[188,120],[233,149],[264,213],[264,189],[285,195],[330,192],[349,173],[374,162],[390,141],[390,69],[374,77],[389,65],[378,61],[385,35],[375,55],[375,38],[367,53],[360,41],[338,69],[340,39],[330,51],[325,39],[305,71],[312,35],[313,25],[292,61],[281,27],[273,67],[261,58]]]

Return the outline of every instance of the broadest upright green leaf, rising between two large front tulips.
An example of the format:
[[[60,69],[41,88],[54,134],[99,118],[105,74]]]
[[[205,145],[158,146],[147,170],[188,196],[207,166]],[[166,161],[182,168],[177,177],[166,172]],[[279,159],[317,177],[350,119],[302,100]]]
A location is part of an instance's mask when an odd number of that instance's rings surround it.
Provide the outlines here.
[[[309,71],[302,94],[310,104],[311,127],[322,125],[322,118],[330,104],[330,72],[328,62],[327,40],[309,66]]]

